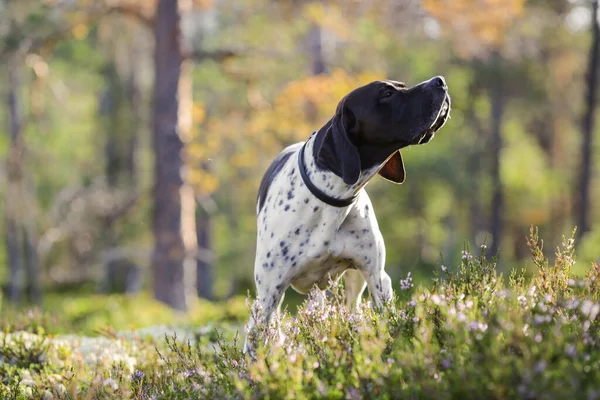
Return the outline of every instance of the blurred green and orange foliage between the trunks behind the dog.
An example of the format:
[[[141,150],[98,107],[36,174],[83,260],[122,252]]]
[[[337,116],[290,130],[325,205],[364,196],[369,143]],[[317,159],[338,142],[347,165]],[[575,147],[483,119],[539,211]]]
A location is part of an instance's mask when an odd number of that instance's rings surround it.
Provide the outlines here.
[[[55,284],[57,275],[95,281],[102,276],[96,273],[100,260],[106,247],[113,246],[104,243],[104,209],[97,194],[107,194],[107,141],[118,137],[127,142],[134,129],[136,184],[122,184],[118,190],[119,195],[139,191],[139,201],[118,218],[114,233],[117,247],[131,246],[136,254],[140,250],[138,264],[148,264],[152,248],[153,36],[129,17],[136,10],[150,15],[153,4],[115,1],[111,4],[124,5],[130,13],[100,17],[96,7],[106,2],[63,3],[0,2],[0,51],[8,55],[17,47],[25,49],[16,60],[25,175],[34,198],[32,223],[43,242],[40,276],[46,287]],[[202,212],[212,222],[217,296],[232,290],[232,276],[237,293],[251,286],[254,199],[268,163],[285,145],[318,129],[337,101],[367,78],[399,79],[410,86],[441,74],[452,96],[452,119],[435,140],[403,150],[406,184],[390,186],[376,178],[368,187],[388,244],[389,273],[396,280],[407,270],[414,270],[417,280],[428,279],[440,250],[460,254],[463,242],[457,238],[497,240],[503,254],[498,268],[506,272],[527,255],[521,240],[527,226],[540,226],[552,245],[572,226],[573,199],[565,193],[575,192],[580,160],[581,65],[589,34],[587,28],[571,29],[568,21],[581,5],[400,3],[348,8],[338,1],[195,1],[197,8],[184,16],[190,22],[185,23],[184,36],[189,37],[184,47],[243,50],[224,62],[197,62],[189,77],[193,137],[186,143],[185,176],[200,198],[210,197]],[[322,34],[327,67],[320,77],[311,74],[316,55],[308,42],[315,28]],[[489,62],[490,50],[502,56],[501,63]],[[134,78],[138,82],[136,110],[120,99],[114,115],[100,111],[100,99],[111,87],[107,65],[114,67],[117,86],[129,88]],[[0,65],[3,74],[6,67]],[[504,229],[501,238],[491,238],[488,88],[498,79],[506,91],[500,168]],[[128,90],[114,95],[128,96]],[[5,108],[0,109],[4,152],[9,146]],[[107,117],[115,119],[114,125],[103,122]],[[592,185],[594,194],[598,187]],[[86,190],[81,195],[85,199],[66,200],[81,190]],[[4,208],[0,204],[1,212]],[[592,231],[579,253],[584,261],[598,257],[597,213],[590,218]],[[56,241],[46,241],[54,237]],[[0,267],[5,258],[2,246]],[[579,265],[574,269],[583,273]]]

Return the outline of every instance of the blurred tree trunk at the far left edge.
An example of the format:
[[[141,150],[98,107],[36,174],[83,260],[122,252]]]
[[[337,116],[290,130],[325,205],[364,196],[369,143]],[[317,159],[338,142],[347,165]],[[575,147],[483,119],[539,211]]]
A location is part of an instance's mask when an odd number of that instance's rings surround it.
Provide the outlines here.
[[[31,2],[21,4],[2,4],[4,20],[8,29],[4,30],[4,54],[8,60],[7,72],[7,120],[9,122],[9,149],[6,163],[7,191],[5,204],[6,223],[6,254],[9,266],[9,299],[18,302],[22,297],[23,286],[26,283],[29,289],[30,301],[39,304],[42,298],[41,274],[37,255],[37,231],[35,220],[37,204],[31,177],[26,171],[27,146],[25,129],[27,123],[33,119],[39,107],[35,101],[38,96],[31,97],[30,114],[26,115],[26,108],[22,94],[25,92],[23,85],[23,71],[25,68],[25,55],[23,47],[29,42],[29,29],[32,27],[40,30],[52,26],[52,21],[44,19],[44,6]],[[37,26],[36,26],[37,25]],[[44,62],[31,62],[37,76],[47,73]],[[38,81],[38,83],[41,80]]]

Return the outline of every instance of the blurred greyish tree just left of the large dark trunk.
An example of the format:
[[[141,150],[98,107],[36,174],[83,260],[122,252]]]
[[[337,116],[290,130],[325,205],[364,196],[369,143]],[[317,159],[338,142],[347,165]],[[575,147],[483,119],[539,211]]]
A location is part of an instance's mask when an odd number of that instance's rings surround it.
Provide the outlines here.
[[[149,35],[144,35],[146,26],[132,23],[122,15],[99,21],[98,29],[98,41],[107,60],[102,70],[107,84],[100,99],[101,128],[106,136],[106,185],[110,193],[125,192],[127,196],[124,203],[114,207],[102,221],[104,253],[112,254],[104,257],[103,286],[109,291],[135,292],[142,284],[140,257],[123,249],[133,235],[139,233],[123,228],[132,207],[139,207],[144,190],[140,187],[137,158],[142,143],[140,136],[146,128],[142,62],[149,51],[142,47],[151,40]]]

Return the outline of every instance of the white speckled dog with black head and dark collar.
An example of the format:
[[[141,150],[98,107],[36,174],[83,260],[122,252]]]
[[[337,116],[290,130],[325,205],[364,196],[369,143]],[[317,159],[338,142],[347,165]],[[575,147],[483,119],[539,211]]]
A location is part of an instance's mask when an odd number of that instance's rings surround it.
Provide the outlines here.
[[[450,117],[442,76],[412,88],[392,80],[347,94],[335,115],[305,142],[285,148],[258,190],[254,280],[257,297],[244,352],[257,324],[268,324],[286,289],[326,290],[344,276],[348,307],[369,288],[380,309],[392,300],[385,245],[364,187],[376,174],[405,180],[400,149],[429,142]]]

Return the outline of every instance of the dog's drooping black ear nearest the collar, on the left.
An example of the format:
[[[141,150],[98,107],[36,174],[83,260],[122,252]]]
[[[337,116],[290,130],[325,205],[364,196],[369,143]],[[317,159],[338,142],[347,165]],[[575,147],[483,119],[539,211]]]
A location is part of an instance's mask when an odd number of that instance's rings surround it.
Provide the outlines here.
[[[317,152],[319,160],[330,165],[332,172],[339,175],[347,185],[358,181],[361,170],[358,149],[349,137],[349,130],[355,121],[352,112],[340,102]]]

